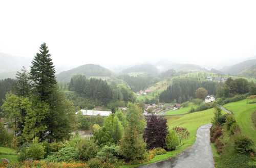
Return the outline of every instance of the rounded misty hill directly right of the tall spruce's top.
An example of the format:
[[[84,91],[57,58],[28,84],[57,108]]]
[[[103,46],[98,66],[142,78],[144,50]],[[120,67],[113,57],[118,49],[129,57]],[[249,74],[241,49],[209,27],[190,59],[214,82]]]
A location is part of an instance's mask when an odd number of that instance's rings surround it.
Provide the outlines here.
[[[68,71],[60,72],[56,75],[58,81],[70,81],[73,75],[80,74],[85,75],[87,78],[91,76],[108,76],[111,77],[114,73],[109,69],[101,67],[95,64],[86,64]]]

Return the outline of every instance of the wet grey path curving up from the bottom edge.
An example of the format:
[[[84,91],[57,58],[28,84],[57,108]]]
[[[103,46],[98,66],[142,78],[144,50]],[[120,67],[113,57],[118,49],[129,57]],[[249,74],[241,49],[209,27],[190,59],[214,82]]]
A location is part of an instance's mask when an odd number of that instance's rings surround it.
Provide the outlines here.
[[[211,125],[206,124],[199,127],[195,144],[193,147],[183,151],[181,155],[140,167],[214,168],[214,158],[210,145],[209,129]]]

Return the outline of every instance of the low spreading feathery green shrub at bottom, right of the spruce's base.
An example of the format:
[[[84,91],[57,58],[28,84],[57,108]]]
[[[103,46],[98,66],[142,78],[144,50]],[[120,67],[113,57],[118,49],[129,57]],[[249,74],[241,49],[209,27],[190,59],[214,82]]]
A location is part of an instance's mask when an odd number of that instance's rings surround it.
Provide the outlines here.
[[[70,162],[77,160],[78,150],[74,147],[61,148],[58,152],[54,152],[51,156],[46,158],[48,162]]]

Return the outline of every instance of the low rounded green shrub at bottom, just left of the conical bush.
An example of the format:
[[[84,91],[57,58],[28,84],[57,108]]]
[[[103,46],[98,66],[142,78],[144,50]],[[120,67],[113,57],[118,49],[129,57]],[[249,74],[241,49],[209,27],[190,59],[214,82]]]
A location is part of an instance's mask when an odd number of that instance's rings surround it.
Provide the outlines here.
[[[109,160],[111,163],[116,162],[119,158],[121,158],[121,154],[119,152],[119,146],[104,146],[98,153],[97,158],[107,161]]]

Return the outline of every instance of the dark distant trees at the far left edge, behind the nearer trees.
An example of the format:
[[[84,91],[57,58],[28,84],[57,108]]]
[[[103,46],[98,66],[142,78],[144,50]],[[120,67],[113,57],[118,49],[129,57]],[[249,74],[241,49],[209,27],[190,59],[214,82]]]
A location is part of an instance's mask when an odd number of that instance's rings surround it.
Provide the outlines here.
[[[3,99],[7,92],[13,91],[14,80],[11,78],[0,80],[0,106],[3,104]]]

